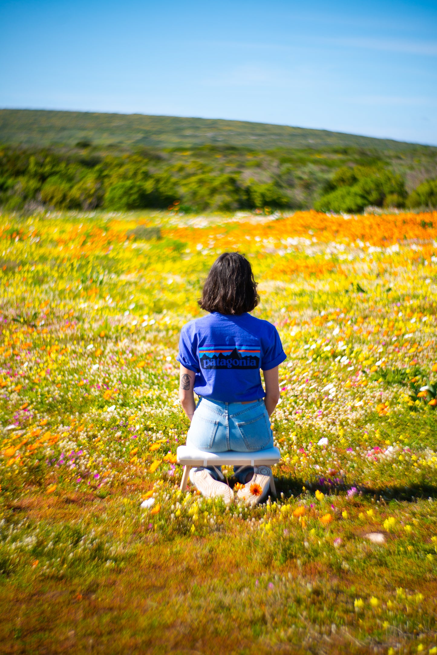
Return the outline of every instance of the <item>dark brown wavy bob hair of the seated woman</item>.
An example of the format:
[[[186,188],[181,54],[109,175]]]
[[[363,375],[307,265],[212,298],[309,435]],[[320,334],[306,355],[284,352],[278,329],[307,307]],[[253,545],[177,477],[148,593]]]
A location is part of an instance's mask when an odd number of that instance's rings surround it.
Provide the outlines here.
[[[250,263],[239,252],[223,252],[212,265],[199,305],[207,312],[244,314],[259,303]]]

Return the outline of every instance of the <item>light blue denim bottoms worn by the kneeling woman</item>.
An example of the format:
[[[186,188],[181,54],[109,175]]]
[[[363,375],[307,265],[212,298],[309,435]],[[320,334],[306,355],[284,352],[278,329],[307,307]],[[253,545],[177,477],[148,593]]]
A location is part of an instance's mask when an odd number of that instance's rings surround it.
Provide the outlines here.
[[[243,404],[200,398],[187,445],[214,453],[272,448],[273,432],[264,400]]]

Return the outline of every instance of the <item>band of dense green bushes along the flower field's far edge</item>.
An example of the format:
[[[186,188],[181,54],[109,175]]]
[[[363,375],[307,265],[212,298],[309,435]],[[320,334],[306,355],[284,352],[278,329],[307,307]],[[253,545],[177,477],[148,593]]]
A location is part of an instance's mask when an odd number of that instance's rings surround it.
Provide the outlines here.
[[[72,151],[0,148],[0,206],[8,211],[126,211],[175,203],[185,212],[434,208],[437,180],[407,193],[404,178],[387,161],[362,152],[334,157],[202,146],[190,152],[142,149],[112,154],[100,153],[86,141]]]

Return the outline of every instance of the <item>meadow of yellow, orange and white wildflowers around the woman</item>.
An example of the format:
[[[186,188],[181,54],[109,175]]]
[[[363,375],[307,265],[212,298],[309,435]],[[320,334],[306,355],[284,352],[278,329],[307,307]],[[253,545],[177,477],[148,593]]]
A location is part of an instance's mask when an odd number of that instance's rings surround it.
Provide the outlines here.
[[[254,509],[176,464],[230,250],[288,356]],[[1,215],[0,280],[2,652],[437,654],[437,212]]]

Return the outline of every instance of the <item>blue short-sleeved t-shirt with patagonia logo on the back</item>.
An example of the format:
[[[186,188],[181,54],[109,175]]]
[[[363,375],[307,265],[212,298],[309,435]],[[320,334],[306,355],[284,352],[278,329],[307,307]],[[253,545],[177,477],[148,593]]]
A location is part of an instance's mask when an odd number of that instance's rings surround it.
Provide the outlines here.
[[[259,369],[275,368],[286,354],[268,321],[212,312],[183,326],[176,359],[196,374],[198,396],[240,403],[264,398]]]

